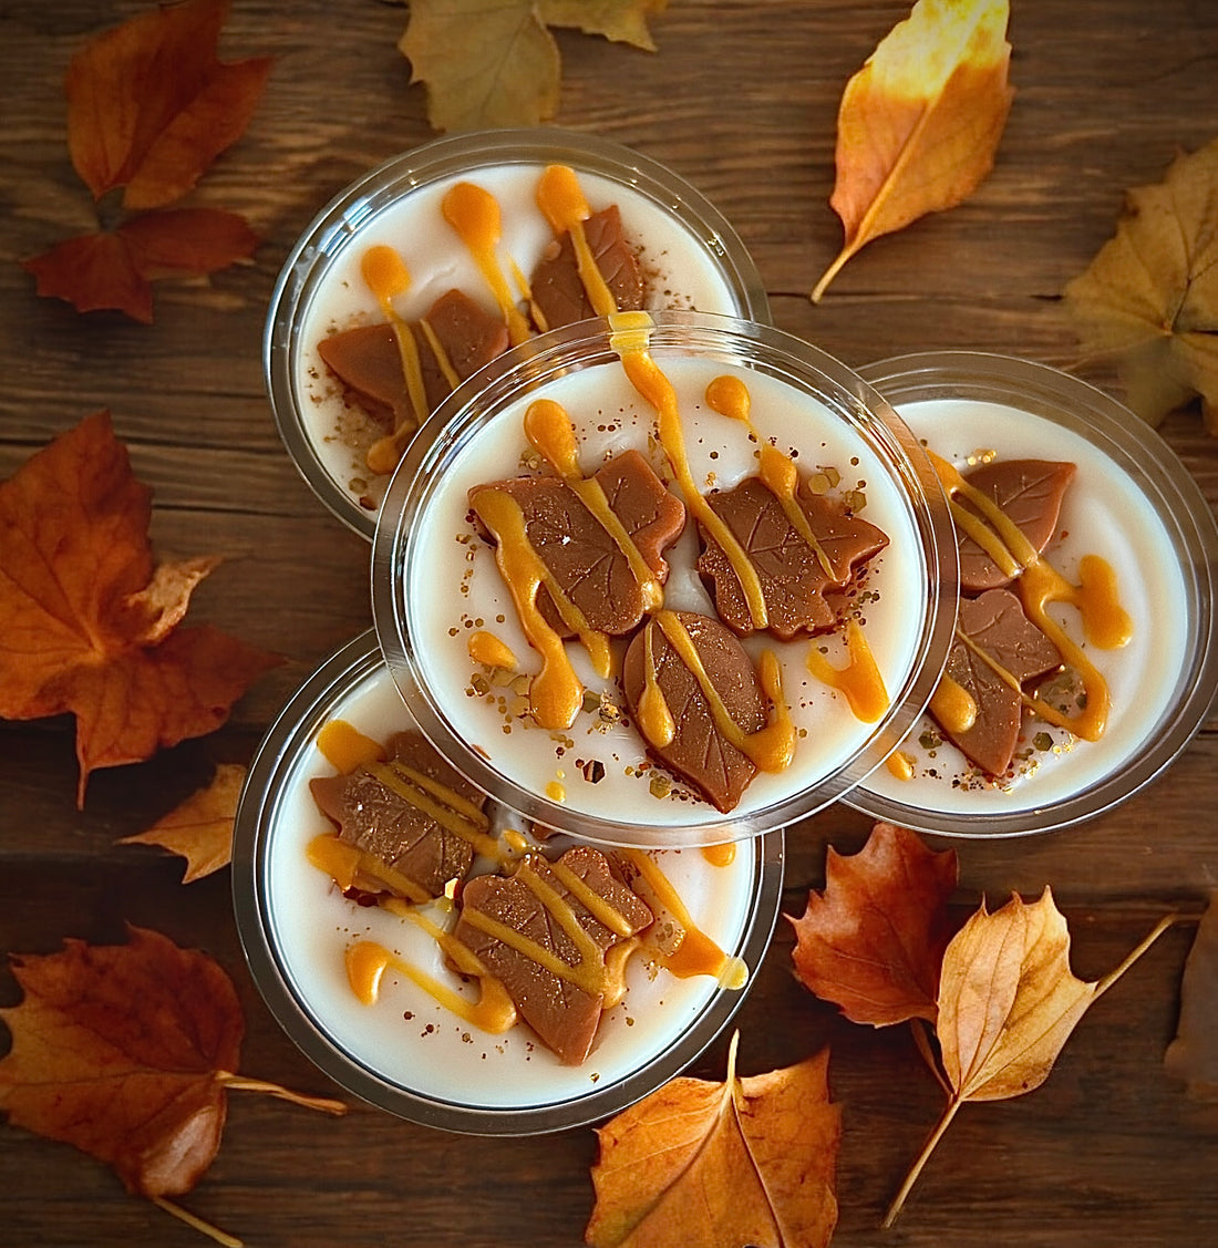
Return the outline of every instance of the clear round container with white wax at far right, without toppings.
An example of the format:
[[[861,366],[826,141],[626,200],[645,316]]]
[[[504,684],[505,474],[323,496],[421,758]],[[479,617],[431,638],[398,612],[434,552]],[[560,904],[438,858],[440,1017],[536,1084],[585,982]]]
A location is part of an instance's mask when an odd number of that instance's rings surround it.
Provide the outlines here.
[[[951,836],[1040,832],[1111,810],[1177,758],[1218,689],[1218,527],[1209,504],[1154,431],[1057,369],[950,351],[861,372],[925,446],[962,470],[988,456],[1076,464],[1046,555],[1072,583],[1081,558],[1106,559],[1133,633],[1121,649],[1087,646],[1112,694],[1098,741],[1026,718],[1013,774],[998,782],[941,743],[927,718],[901,746],[914,778],[880,769],[849,805]],[[1056,613],[1081,638],[1078,613]]]

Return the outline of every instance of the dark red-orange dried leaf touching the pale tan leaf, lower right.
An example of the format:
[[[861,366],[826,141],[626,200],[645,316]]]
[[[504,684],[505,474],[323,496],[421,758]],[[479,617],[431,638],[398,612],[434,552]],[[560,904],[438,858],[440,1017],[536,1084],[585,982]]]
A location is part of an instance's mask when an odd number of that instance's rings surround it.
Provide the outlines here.
[[[935,854],[892,824],[876,824],[857,854],[830,846],[824,892],[786,916],[800,982],[852,1022],[933,1022],[957,875],[955,850]]]

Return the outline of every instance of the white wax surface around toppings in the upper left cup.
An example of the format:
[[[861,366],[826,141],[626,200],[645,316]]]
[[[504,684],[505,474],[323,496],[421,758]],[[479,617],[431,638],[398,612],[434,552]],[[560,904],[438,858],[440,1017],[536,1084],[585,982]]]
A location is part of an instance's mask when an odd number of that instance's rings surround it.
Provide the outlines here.
[[[414,187],[376,216],[361,221],[343,248],[327,260],[324,277],[301,317],[293,359],[296,391],[304,433],[326,472],[339,492],[347,492],[357,504],[363,499],[366,510],[379,505],[388,484],[388,477],[371,474],[364,464],[368,446],[383,431],[358,409],[344,406],[342,387],[317,353],[318,341],[336,329],[384,319],[359,273],[362,256],[377,245],[392,246],[402,256],[412,286],[394,302],[394,308],[407,321],[422,317],[453,287],[498,314],[485,278],[444,220],[441,202],[460,181],[475,182],[494,195],[503,218],[498,255],[510,282],[513,262],[528,276],[554,237],[535,202],[544,167],[542,162],[475,167]],[[741,314],[739,300],[706,243],[666,208],[603,175],[579,172],[578,176],[593,212],[618,205],[623,231],[639,251],[648,277],[649,310]]]

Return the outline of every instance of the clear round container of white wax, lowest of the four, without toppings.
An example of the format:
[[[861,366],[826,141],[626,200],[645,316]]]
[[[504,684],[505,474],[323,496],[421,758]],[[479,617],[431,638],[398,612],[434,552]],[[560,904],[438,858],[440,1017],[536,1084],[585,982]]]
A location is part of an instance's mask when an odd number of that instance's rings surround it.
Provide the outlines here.
[[[237,811],[232,887],[258,990],[287,1035],[338,1085],[399,1117],[449,1131],[558,1131],[646,1096],[728,1023],[748,983],[729,991],[710,976],[650,973],[638,958],[628,967],[625,997],[605,1012],[578,1067],[562,1065],[524,1025],[494,1036],[478,1031],[406,976],[394,980],[392,968],[377,1002],[362,1005],[344,971],[344,951],[357,938],[401,950],[458,991],[469,988],[446,971],[421,927],[346,900],[308,861],[309,840],[332,830],[308,781],[334,774],[316,743],[336,719],[377,740],[412,726],[371,631],[331,655],[267,733]],[[703,930],[745,962],[751,982],[781,901],[782,834],[751,842],[726,864],[671,851],[659,865]]]

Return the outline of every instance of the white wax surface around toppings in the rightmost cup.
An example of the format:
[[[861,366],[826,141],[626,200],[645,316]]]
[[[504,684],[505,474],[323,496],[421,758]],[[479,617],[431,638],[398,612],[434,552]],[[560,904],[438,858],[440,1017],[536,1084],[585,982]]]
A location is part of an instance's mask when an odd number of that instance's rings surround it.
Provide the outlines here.
[[[927,751],[912,730],[901,750],[916,775],[899,780],[887,769],[862,786],[917,810],[968,816],[1010,814],[1051,806],[1118,774],[1147,745],[1159,716],[1178,698],[1188,610],[1186,585],[1171,539],[1153,505],[1128,474],[1091,442],[1045,417],[997,403],[936,399],[899,408],[925,444],[962,470],[968,457],[996,452],[1001,459],[1051,459],[1077,466],[1066,492],[1058,537],[1045,554],[1071,583],[1087,554],[1106,559],[1117,573],[1119,602],[1133,622],[1133,636],[1119,650],[1084,645],[1112,691],[1112,713],[1099,741],[1083,741],[1040,719],[1026,719],[1018,750],[1032,751],[1013,780],[987,780],[950,744]],[[1058,604],[1052,614],[1082,643],[1078,612]],[[1052,748],[1035,748],[1047,734]],[[1017,753],[1018,753],[1017,750]]]

